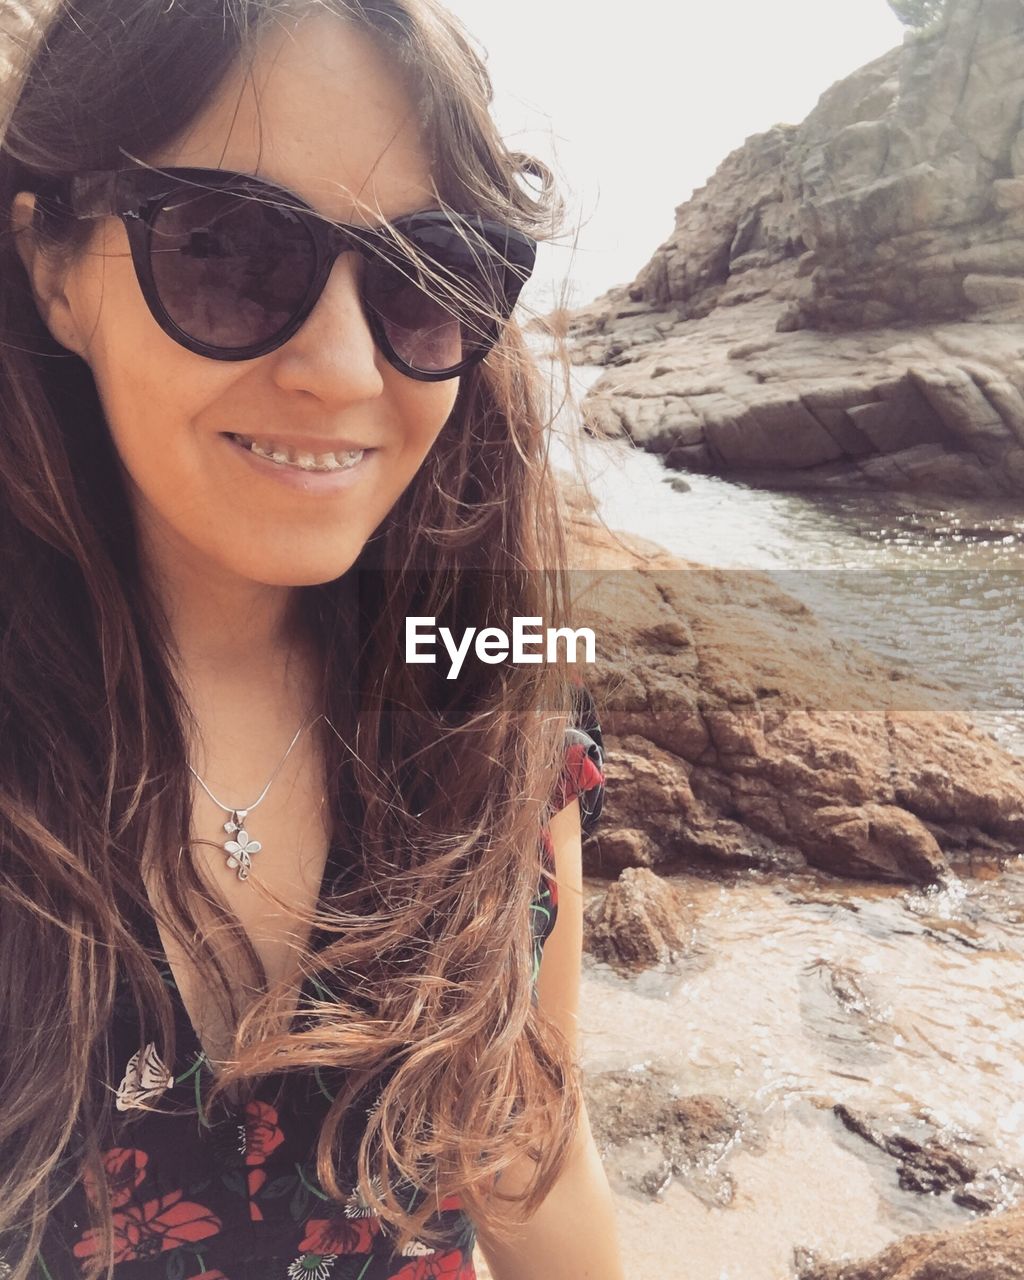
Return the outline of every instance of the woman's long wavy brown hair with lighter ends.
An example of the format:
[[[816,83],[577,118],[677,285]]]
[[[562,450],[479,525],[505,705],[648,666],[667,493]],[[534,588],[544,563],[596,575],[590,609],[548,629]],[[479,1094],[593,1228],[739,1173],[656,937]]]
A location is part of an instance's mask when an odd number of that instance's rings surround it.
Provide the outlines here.
[[[268,23],[321,10],[369,31],[407,77],[445,201],[554,233],[548,170],[503,143],[484,61],[434,0],[60,0],[13,46],[0,207],[64,174],[145,160]],[[70,260],[93,229],[49,218],[42,247]],[[308,918],[321,945],[273,988],[191,856],[191,719],[172,637],[92,374],[50,337],[10,233],[0,548],[0,1257],[15,1280],[83,1175],[104,1239],[91,1274],[113,1270],[101,1152],[122,979],[140,1047],[152,1041],[175,1060],[173,1009],[136,927],[151,910],[150,876],[161,922],[218,975],[234,1015],[232,1061],[204,1106],[278,1073],[337,1071],[317,1148],[326,1193],[352,1190],[343,1126],[366,1115],[351,1167],[397,1248],[443,1243],[428,1219],[447,1194],[502,1238],[547,1196],[581,1110],[577,1064],[534,997],[530,924],[571,694],[558,666],[467,663],[447,681],[440,667],[407,664],[402,645],[412,614],[458,631],[568,621],[544,403],[521,329],[511,323],[462,378],[430,456],[353,568],[297,589],[323,653],[332,841],[346,874]],[[243,948],[255,1004],[238,1007],[214,933],[197,928],[198,901]],[[308,975],[321,998],[282,1019]],[[535,1176],[503,1196],[498,1176],[526,1155]],[[402,1188],[430,1196],[417,1207]]]

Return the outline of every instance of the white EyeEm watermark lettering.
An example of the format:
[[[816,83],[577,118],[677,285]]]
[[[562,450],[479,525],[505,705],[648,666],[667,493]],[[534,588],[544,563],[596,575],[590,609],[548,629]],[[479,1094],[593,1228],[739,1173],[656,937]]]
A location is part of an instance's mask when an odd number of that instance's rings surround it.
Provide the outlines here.
[[[596,662],[594,632],[590,627],[541,627],[543,618],[512,618],[512,635],[500,627],[466,627],[456,640],[436,618],[406,618],[406,662],[438,660],[438,639],[448,653],[448,680],[456,680],[470,649],[480,662],[558,662],[558,644],[564,641],[566,662]],[[577,658],[582,644],[584,657]]]

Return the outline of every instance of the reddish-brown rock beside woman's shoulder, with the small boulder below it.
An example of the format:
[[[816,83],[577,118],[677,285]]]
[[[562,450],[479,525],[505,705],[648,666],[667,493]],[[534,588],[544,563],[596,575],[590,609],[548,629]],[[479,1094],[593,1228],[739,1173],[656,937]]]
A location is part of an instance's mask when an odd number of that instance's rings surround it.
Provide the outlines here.
[[[1024,762],[948,690],[837,637],[765,575],[571,518],[609,762],[590,874],[810,865],[928,883],[1024,852]],[[605,954],[646,964],[677,947],[653,883],[595,908]]]

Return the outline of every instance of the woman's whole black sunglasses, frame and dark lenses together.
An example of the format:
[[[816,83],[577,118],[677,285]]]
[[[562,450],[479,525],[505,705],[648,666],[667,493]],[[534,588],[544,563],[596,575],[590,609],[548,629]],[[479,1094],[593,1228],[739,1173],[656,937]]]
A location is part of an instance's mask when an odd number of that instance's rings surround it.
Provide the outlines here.
[[[50,198],[76,218],[122,219],[152,317],[210,360],[253,360],[285,343],[334,260],[355,251],[384,357],[420,381],[457,378],[498,340],[536,259],[531,237],[488,218],[428,209],[347,227],[227,169],[81,173]]]

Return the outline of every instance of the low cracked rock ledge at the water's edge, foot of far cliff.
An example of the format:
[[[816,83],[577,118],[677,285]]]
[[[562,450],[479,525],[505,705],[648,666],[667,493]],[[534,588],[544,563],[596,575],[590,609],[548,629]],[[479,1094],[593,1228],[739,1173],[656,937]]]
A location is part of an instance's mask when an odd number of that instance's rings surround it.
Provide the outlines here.
[[[717,310],[636,348],[591,388],[588,425],[778,488],[1024,493],[1024,320],[780,334],[773,311]]]

